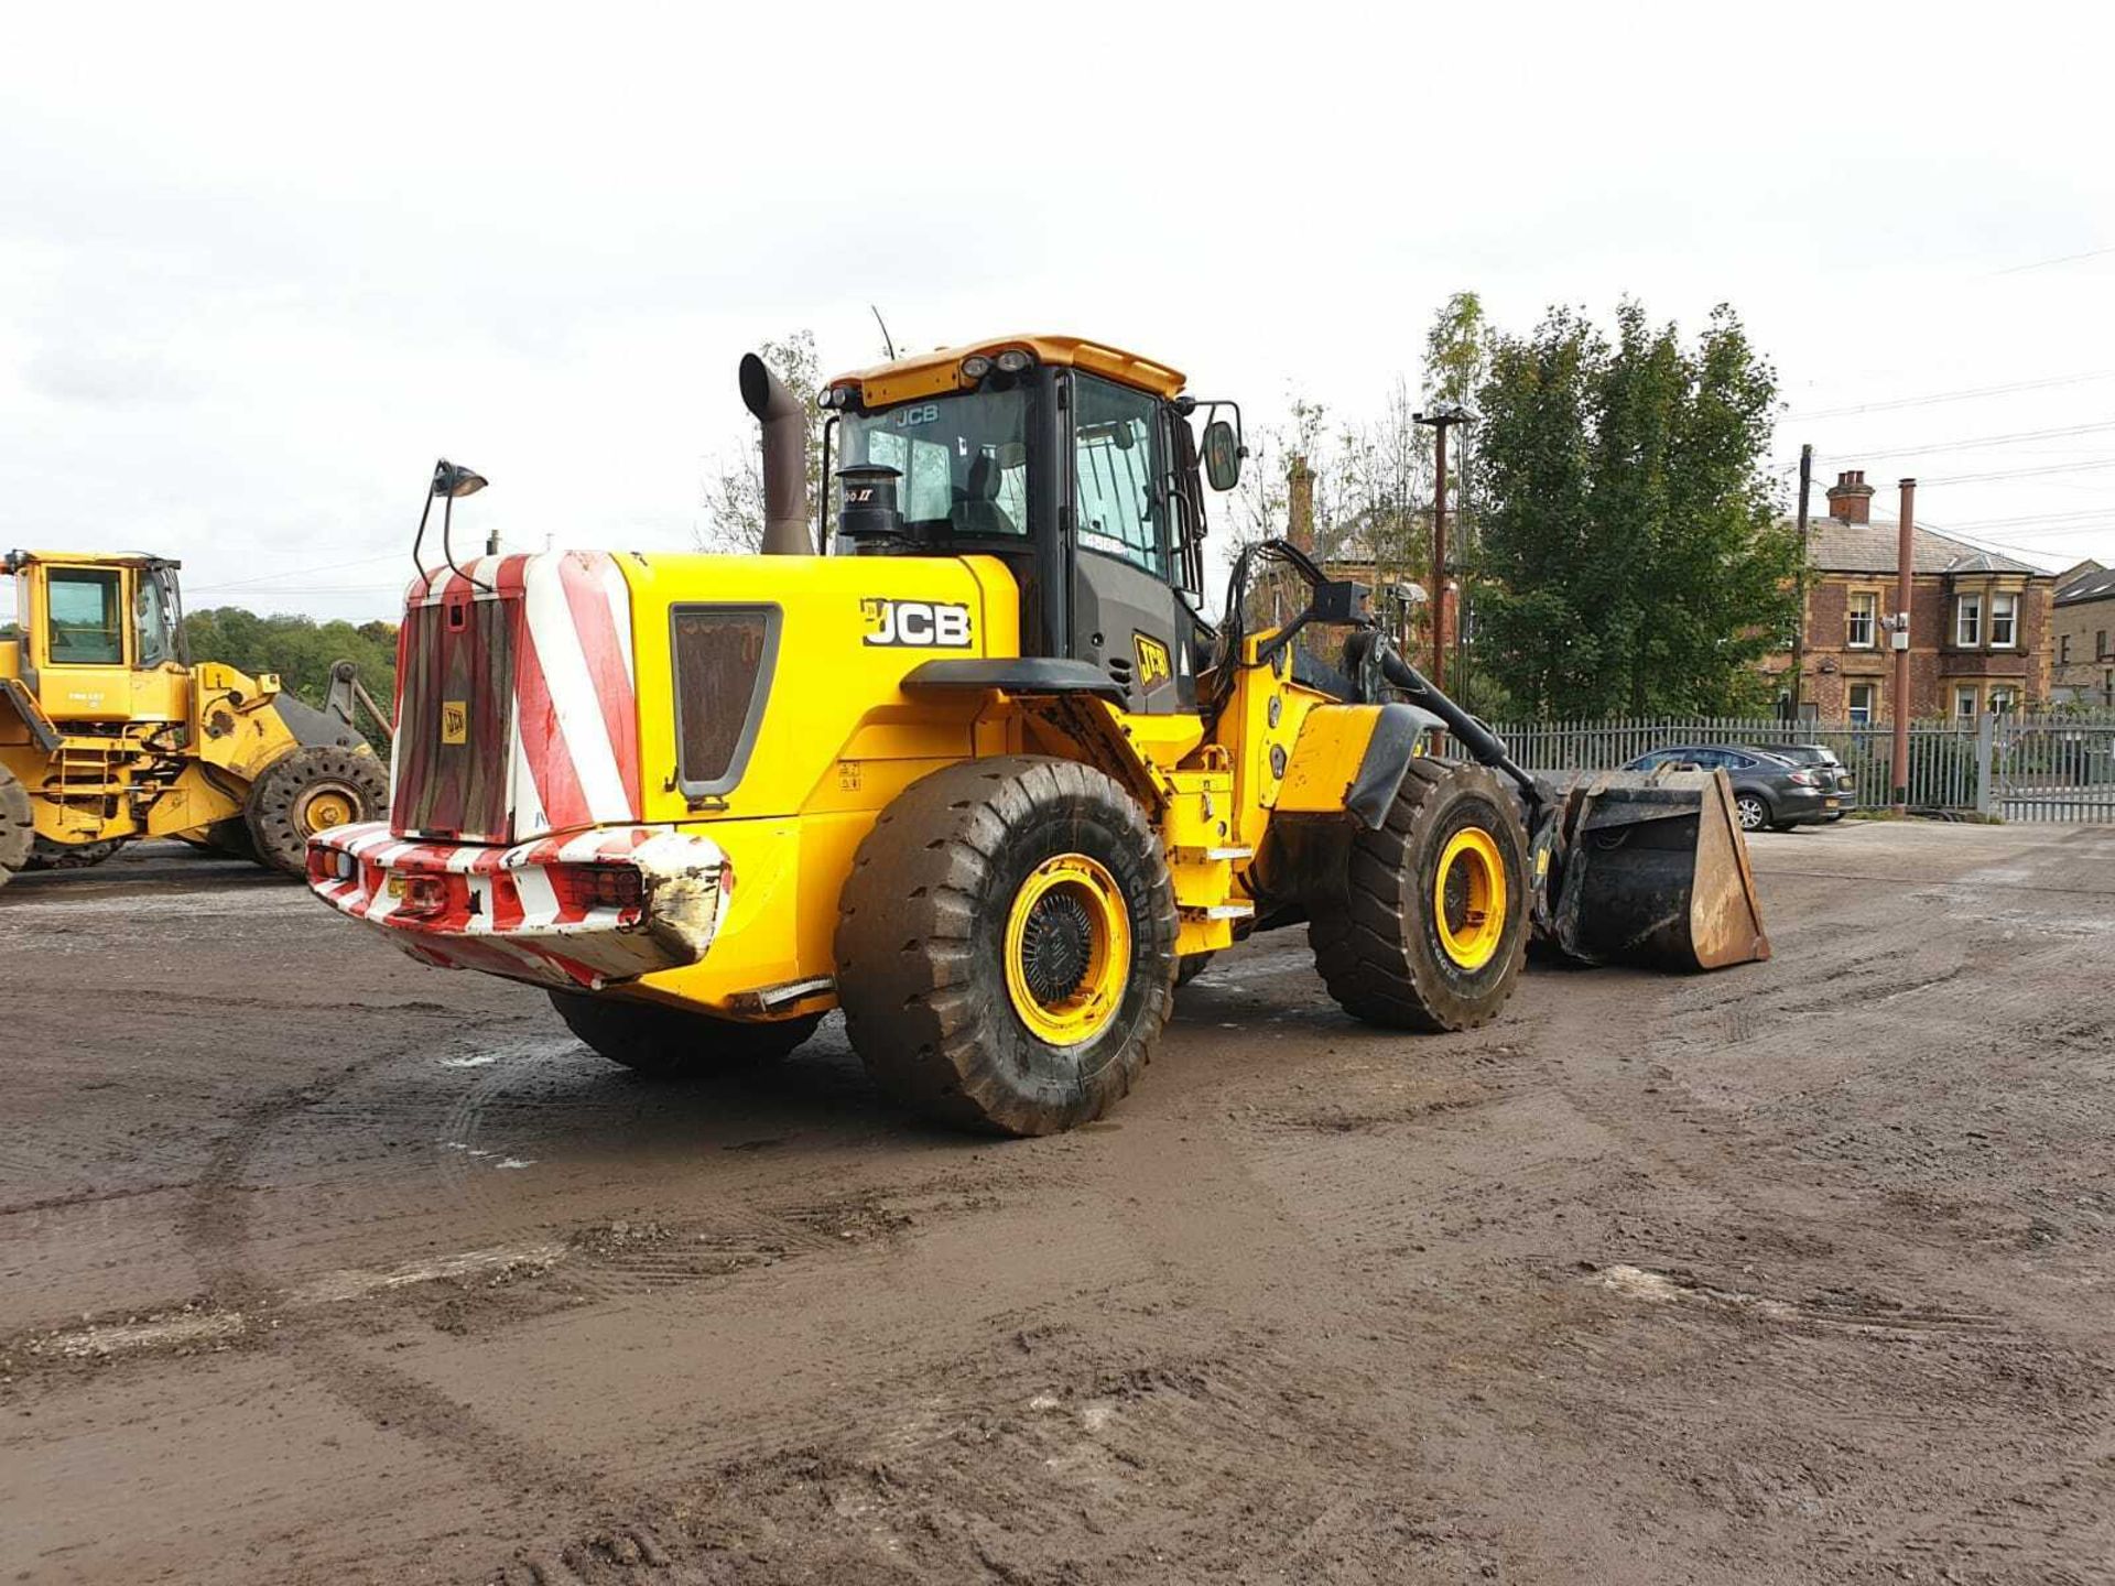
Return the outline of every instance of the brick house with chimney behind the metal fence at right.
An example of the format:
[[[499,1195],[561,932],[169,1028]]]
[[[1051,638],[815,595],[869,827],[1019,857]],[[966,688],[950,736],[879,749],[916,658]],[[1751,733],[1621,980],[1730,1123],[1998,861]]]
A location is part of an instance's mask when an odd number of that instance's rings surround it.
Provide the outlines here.
[[[1895,609],[1893,518],[1872,516],[1865,474],[1840,474],[1827,516],[1806,531],[1806,649],[1800,715],[1819,721],[1891,721],[1895,651],[1884,617]],[[1910,715],[1973,717],[2049,700],[2049,613],[2056,579],[1931,529],[1912,531]],[[1764,664],[1789,706],[1794,664]]]

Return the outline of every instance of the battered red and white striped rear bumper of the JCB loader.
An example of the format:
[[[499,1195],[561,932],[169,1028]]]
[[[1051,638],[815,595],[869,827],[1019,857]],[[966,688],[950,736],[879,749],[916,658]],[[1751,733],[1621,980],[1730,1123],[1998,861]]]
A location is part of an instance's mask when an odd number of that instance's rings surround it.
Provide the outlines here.
[[[666,827],[499,848],[372,820],[309,840],[309,890],[425,964],[599,990],[702,960],[734,869],[711,837]]]

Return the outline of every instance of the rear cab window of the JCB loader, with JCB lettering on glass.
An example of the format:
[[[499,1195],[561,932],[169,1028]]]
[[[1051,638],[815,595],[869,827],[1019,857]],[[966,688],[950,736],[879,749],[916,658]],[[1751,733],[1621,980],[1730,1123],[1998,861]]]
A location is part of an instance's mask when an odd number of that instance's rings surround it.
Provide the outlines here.
[[[1028,533],[1028,393],[956,391],[846,414],[842,467],[901,474],[905,529]]]

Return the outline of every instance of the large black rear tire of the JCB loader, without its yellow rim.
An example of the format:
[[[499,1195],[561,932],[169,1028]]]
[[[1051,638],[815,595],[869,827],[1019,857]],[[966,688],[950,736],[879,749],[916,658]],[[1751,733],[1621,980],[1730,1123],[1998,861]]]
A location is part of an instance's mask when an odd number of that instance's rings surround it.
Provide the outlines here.
[[[1132,956],[1108,1023],[1036,1036],[1007,994],[1007,916],[1028,875],[1085,854],[1115,880]],[[1009,1136],[1102,1117],[1153,1057],[1176,979],[1167,856],[1138,801],[1068,759],[1003,755],[914,782],[859,846],[838,918],[838,1000],[873,1083],[931,1119]]]

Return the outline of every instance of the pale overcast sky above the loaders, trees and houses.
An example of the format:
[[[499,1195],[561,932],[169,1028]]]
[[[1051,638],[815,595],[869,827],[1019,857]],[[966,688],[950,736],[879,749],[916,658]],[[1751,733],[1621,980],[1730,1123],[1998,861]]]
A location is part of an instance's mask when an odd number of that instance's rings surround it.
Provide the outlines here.
[[[1269,423],[1377,412],[1470,288],[1506,328],[1730,300],[1785,463],[1813,440],[1823,480],[1920,476],[1933,527],[2115,563],[2088,6],[755,17],[15,8],[0,546],[393,615],[436,455],[493,480],[465,535],[689,546],[753,440],[740,351],[810,328],[867,364],[869,302],[907,347],[1115,340]]]

